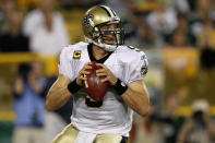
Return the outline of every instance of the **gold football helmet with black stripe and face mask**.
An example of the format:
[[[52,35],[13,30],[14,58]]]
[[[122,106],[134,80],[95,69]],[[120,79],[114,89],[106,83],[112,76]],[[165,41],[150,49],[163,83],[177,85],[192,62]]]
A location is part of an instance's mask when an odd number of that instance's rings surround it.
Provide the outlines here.
[[[112,29],[101,31],[103,26],[115,24]],[[121,22],[116,12],[106,5],[95,5],[84,15],[82,27],[87,43],[93,43],[107,51],[114,51],[119,45],[123,44],[124,33]],[[106,37],[115,37],[114,43],[107,43]]]

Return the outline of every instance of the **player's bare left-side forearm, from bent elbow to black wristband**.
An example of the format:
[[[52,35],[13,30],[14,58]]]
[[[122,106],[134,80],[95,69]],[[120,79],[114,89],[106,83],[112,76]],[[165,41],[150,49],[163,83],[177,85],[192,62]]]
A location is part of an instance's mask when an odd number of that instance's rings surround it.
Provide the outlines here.
[[[71,97],[71,93],[67,87],[64,88],[52,88],[48,92],[46,98],[46,108],[48,110],[55,110],[63,106]]]

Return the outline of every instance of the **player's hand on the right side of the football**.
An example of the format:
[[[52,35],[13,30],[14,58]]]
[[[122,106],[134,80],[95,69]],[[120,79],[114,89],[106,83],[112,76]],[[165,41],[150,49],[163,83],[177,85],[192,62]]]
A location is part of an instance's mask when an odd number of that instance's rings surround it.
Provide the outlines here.
[[[117,83],[117,78],[112,74],[112,72],[101,63],[96,63],[96,65],[101,67],[101,69],[96,70],[97,76],[105,76],[105,79],[101,80],[101,82],[108,81],[111,85],[115,85]]]

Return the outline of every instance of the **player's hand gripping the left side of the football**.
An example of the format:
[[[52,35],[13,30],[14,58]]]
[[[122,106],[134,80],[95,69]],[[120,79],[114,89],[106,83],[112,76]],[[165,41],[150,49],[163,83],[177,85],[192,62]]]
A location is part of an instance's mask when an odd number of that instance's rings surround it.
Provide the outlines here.
[[[76,78],[76,84],[79,85],[83,85],[83,81],[86,81],[86,74],[89,74],[89,72],[87,71],[87,69],[92,69],[91,67],[91,62],[87,62],[84,64],[84,67],[81,69],[81,71],[79,72],[79,75]]]

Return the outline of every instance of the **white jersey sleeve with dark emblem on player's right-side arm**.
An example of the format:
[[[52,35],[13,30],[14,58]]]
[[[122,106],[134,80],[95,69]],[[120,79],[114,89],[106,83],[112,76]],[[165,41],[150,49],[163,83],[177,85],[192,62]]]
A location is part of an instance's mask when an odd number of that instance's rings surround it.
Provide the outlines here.
[[[129,83],[143,79],[148,69],[148,61],[146,55],[141,51],[135,57],[134,61],[129,64]]]

